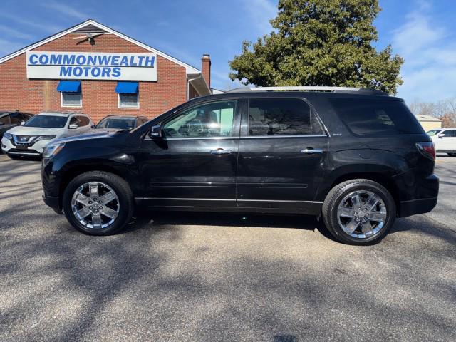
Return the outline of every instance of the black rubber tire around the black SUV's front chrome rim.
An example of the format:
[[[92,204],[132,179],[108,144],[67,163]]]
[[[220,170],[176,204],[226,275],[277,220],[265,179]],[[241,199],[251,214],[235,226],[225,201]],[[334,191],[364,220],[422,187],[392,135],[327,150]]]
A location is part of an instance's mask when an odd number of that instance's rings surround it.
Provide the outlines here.
[[[73,214],[73,211],[71,209],[73,194],[76,192],[78,187],[81,187],[81,185],[84,185],[88,182],[102,182],[105,185],[111,187],[115,191],[115,194],[118,196],[118,216],[115,218],[115,221],[113,223],[108,225],[108,227],[99,229],[88,228],[81,224],[81,222],[79,222],[75,217],[75,214]],[[63,192],[62,204],[63,213],[65,214],[66,219],[68,219],[68,222],[70,222],[73,227],[78,229],[78,231],[88,235],[105,236],[115,234],[115,232],[118,232],[120,229],[125,227],[128,222],[130,222],[134,211],[133,192],[131,191],[128,183],[118,175],[104,171],[90,171],[75,177]]]

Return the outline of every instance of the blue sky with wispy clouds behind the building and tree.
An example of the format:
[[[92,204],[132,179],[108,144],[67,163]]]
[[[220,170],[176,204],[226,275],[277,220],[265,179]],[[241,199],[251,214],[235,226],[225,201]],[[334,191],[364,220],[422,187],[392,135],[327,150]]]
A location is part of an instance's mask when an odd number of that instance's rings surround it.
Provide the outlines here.
[[[88,18],[115,28],[200,68],[202,53],[212,57],[212,86],[234,88],[228,61],[244,39],[271,31],[276,0],[169,0],[128,2],[2,0],[0,56]],[[405,58],[398,95],[435,101],[456,95],[456,1],[380,0],[375,21],[380,39]]]

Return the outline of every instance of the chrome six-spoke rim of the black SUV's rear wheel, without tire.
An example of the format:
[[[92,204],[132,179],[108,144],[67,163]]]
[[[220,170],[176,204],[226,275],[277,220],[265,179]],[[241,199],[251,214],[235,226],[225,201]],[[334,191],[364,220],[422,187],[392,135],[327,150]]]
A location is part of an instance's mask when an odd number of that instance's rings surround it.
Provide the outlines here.
[[[372,191],[355,191],[343,197],[337,208],[340,227],[351,237],[366,239],[385,226],[388,208]]]

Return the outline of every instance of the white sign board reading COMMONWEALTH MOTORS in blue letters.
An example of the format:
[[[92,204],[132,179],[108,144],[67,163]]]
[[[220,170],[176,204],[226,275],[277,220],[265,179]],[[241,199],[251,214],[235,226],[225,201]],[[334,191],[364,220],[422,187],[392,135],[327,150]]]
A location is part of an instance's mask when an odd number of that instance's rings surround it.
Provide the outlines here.
[[[27,51],[27,78],[157,81],[155,53]]]

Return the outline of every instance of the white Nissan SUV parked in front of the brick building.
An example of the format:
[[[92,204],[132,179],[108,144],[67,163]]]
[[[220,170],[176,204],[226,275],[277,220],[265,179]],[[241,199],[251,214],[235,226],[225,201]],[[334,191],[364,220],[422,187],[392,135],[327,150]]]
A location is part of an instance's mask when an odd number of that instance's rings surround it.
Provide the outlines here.
[[[51,140],[87,133],[91,125],[92,120],[85,114],[41,113],[4,133],[1,150],[9,157],[41,156]]]

